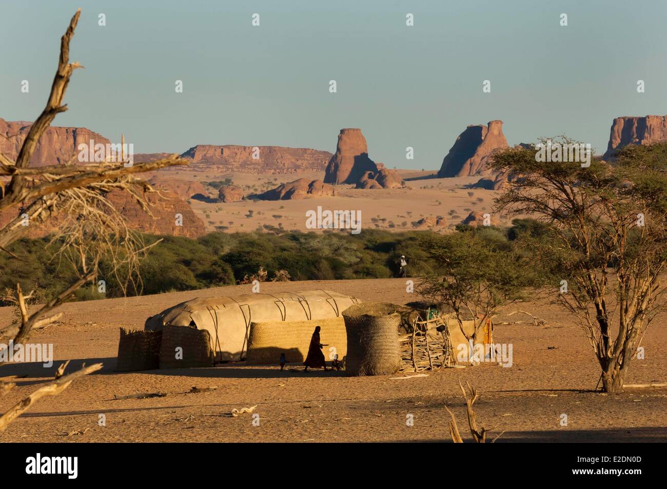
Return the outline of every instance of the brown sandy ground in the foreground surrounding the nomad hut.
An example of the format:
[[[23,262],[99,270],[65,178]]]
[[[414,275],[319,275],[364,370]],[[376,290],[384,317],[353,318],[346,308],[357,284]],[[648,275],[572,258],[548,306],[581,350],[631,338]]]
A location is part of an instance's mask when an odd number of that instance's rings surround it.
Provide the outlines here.
[[[0,399],[0,412],[53,378],[64,360],[68,372],[81,364],[103,362],[103,370],[75,380],[62,394],[40,400],[15,420],[0,442],[412,442],[450,441],[448,406],[464,440],[470,441],[465,404],[458,382],[480,392],[478,423],[498,442],[664,442],[667,439],[665,388],[626,389],[622,394],[594,392],[600,370],[584,333],[572,317],[544,302],[522,304],[547,321],[498,324],[496,343],[513,344],[511,368],[481,364],[404,375],[346,377],[344,372],[302,372],[302,366],[243,366],[115,373],[119,327],[143,328],[147,316],[198,296],[250,292],[229,286],[192,292],[66,304],[58,324],[33,332],[30,342],[52,343],[56,362],[5,364],[0,376],[25,376]],[[363,300],[405,304],[416,300],[400,279],[341,280],[262,284],[262,292],[325,289]],[[0,308],[0,322],[11,320]],[[517,320],[499,316],[496,322]],[[530,319],[530,318],[526,318]],[[645,360],[635,360],[626,384],[664,382],[667,314],[649,328],[642,345]],[[325,341],[326,332],[322,332]],[[408,374],[410,375],[410,374]],[[192,386],[216,390],[186,394]],[[165,397],[115,400],[137,392],[164,392]],[[259,426],[249,415],[231,416],[233,408],[257,406]],[[105,426],[99,426],[100,414]],[[408,415],[414,426],[407,426]],[[568,425],[560,426],[562,414]],[[79,434],[82,433],[82,434]]]

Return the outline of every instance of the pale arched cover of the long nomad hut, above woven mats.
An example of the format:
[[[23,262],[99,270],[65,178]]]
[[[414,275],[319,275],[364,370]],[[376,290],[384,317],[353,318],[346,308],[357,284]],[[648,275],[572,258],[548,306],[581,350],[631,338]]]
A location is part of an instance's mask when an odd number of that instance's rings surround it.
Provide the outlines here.
[[[163,326],[181,326],[207,330],[215,361],[243,360],[251,322],[339,318],[359,302],[326,290],[193,299],[151,316],[144,329],[161,331]]]

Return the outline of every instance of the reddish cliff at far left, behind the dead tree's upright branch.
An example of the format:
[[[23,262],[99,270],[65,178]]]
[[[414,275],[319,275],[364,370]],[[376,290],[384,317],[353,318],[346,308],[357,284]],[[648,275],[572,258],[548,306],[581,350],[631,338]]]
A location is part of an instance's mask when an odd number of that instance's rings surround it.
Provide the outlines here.
[[[0,119],[0,152],[16,159],[23,141],[30,131],[31,122]],[[107,145],[109,139],[85,127],[47,127],[37,143],[31,166],[55,165],[69,161],[79,154],[80,143]]]

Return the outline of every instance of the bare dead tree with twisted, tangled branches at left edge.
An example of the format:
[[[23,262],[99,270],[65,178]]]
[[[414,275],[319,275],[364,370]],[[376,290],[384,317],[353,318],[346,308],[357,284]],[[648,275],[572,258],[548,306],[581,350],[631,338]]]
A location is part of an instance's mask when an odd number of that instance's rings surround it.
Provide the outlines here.
[[[21,320],[13,338],[15,344],[25,341],[33,327],[57,320],[61,314],[43,316],[69,300],[83,285],[94,281],[100,260],[112,264],[109,273],[125,275],[126,281],[118,282],[127,284],[127,281],[137,280],[138,260],[147,247],[141,235],[127,227],[123,215],[115,209],[107,194],[114,189],[127,191],[150,213],[147,193],[153,192],[153,188],[133,175],[187,164],[172,155],[148,163],[132,164],[120,158],[121,161],[83,165],[75,162],[73,155],[64,164],[31,167],[31,157],[44,131],[57,114],[67,110],[63,98],[73,71],[82,68],[79,63],[69,63],[69,43],[80,14],[81,9],[72,17],[61,39],[49,99],[31,125],[16,161],[0,153],[0,179],[6,183],[0,185],[0,211],[11,217],[0,225],[0,252],[21,260],[7,247],[31,229],[55,223],[57,231],[52,234],[51,243],[57,248],[56,258],[69,262],[77,274],[75,282],[31,314],[25,305],[31,294],[24,295],[17,284],[15,302]],[[12,326],[0,328],[0,336],[12,330]]]

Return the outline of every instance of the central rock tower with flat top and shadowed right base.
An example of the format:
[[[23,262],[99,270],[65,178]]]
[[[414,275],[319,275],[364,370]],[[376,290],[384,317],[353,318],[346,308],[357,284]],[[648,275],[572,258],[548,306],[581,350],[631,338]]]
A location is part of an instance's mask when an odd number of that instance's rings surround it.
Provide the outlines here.
[[[367,171],[376,173],[378,165],[368,157],[368,145],[362,130],[341,129],[336,154],[329,160],[324,183],[357,183]]]

